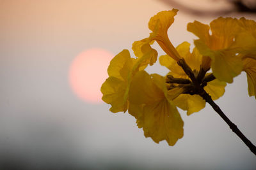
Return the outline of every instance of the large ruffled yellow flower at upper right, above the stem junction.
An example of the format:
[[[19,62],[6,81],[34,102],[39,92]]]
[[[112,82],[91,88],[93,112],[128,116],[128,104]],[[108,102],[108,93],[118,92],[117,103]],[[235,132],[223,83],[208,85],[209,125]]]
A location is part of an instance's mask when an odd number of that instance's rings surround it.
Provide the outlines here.
[[[232,83],[243,69],[241,57],[236,55],[237,49],[232,46],[241,27],[236,18],[222,17],[213,20],[210,27],[195,21],[188,24],[188,31],[199,38],[195,40],[195,46],[205,57],[202,67],[209,69],[206,65],[211,64],[212,73],[218,80]]]

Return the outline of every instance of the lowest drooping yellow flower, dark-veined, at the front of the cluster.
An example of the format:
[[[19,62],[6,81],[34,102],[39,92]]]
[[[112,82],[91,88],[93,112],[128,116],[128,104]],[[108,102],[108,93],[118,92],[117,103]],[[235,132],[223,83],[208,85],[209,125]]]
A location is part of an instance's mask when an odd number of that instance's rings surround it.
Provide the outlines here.
[[[172,99],[182,92],[168,94],[165,79],[158,74],[140,71],[132,78],[129,91],[129,113],[137,119],[145,137],[156,143],[166,140],[173,146],[183,136],[183,121]]]

